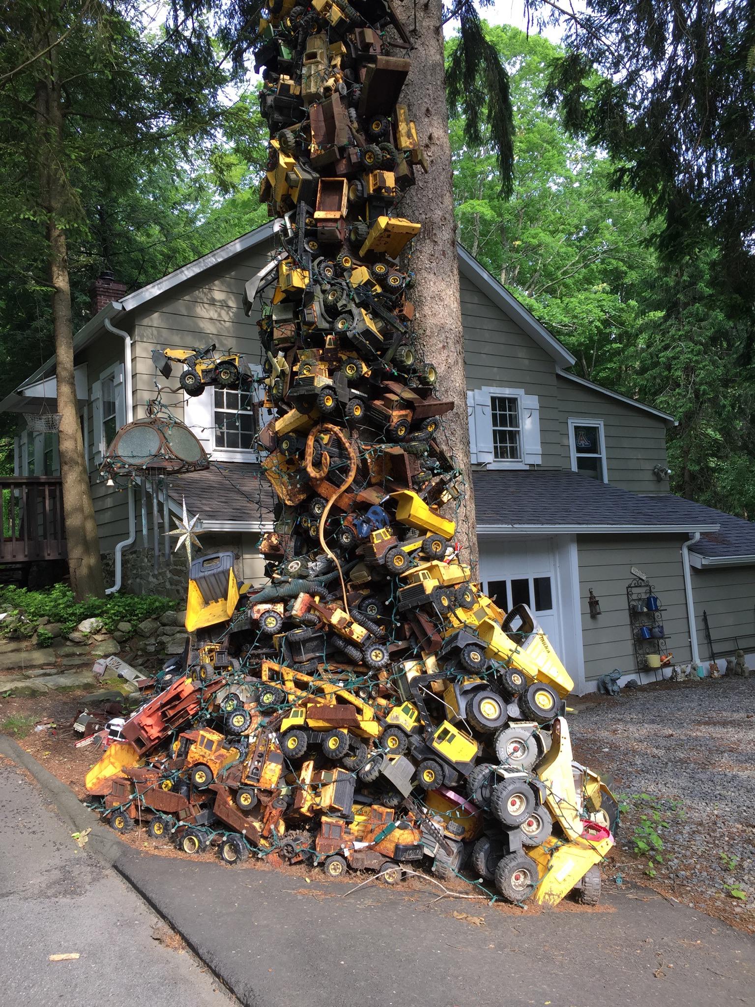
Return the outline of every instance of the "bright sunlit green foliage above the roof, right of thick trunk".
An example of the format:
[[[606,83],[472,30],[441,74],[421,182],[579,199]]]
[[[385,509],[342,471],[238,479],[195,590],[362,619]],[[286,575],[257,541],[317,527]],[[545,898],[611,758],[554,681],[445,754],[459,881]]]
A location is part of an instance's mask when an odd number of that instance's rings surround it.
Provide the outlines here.
[[[611,162],[544,102],[559,48],[511,26],[485,30],[511,79],[515,184],[510,199],[500,195],[493,145],[483,136],[470,147],[454,118],[461,241],[564,341],[585,378],[615,384],[638,324],[637,280],[653,260],[643,203],[611,190]]]

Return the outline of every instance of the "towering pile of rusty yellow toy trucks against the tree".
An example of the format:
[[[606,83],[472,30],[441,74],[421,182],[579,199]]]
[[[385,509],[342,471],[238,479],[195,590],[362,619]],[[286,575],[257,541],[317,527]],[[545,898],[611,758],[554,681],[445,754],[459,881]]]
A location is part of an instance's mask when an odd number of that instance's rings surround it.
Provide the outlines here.
[[[616,805],[573,759],[572,680],[524,606],[482,593],[449,517],[454,404],[413,337],[420,225],[399,214],[425,167],[409,48],[388,0],[276,0],[261,24],[276,247],[244,305],[262,307],[269,583],[239,584],[232,554],[194,561],[186,653],[87,787],[114,829],[228,864],[424,868],[594,903]],[[191,367],[192,395],[249,382],[236,358],[197,382],[194,356],[164,356]]]

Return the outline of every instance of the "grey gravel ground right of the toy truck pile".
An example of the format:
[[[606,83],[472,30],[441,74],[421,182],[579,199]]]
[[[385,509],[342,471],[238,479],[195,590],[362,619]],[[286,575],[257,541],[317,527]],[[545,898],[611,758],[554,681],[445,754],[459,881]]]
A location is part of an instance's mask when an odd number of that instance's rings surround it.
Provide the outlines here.
[[[626,796],[613,874],[755,931],[755,679],[593,695],[570,726],[576,757]],[[662,841],[650,867],[643,815]]]

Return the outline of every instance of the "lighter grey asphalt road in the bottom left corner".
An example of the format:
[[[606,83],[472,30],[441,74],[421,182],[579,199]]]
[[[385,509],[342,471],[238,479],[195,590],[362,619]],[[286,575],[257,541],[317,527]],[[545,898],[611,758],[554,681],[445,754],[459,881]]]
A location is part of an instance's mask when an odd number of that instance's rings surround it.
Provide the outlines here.
[[[229,1007],[186,951],[153,937],[165,924],[72,831],[38,787],[0,759],[0,1004]],[[79,953],[77,961],[50,962]]]

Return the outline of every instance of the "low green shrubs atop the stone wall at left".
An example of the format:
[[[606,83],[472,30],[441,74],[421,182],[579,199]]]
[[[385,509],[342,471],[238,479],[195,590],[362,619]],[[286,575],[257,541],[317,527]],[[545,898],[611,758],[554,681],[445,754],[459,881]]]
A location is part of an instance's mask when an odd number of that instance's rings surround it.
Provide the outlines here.
[[[177,607],[177,601],[154,594],[111,594],[107,598],[74,601],[73,592],[65,584],[55,584],[47,591],[28,591],[12,585],[0,590],[0,609],[17,609],[30,619],[46,615],[50,622],[59,622],[65,633],[82,619],[92,616],[99,616],[112,632],[119,622],[142,622]]]

